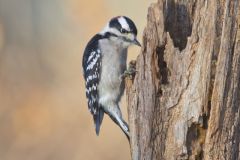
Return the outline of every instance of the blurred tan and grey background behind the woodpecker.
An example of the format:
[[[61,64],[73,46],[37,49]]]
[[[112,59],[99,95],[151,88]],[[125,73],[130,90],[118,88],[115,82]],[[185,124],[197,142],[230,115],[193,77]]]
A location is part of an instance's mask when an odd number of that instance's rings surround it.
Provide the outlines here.
[[[81,58],[113,16],[132,18],[142,41],[151,2],[0,0],[0,160],[130,159],[125,135],[108,116],[95,135]],[[130,48],[128,60],[139,52]]]

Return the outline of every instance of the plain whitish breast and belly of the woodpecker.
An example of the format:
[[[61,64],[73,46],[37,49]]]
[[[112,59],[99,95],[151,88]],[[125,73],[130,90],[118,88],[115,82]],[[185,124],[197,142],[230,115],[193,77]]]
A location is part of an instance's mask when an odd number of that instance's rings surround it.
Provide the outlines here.
[[[127,48],[108,39],[101,40],[102,70],[99,83],[99,102],[103,106],[118,103],[124,86],[120,76],[126,70]]]

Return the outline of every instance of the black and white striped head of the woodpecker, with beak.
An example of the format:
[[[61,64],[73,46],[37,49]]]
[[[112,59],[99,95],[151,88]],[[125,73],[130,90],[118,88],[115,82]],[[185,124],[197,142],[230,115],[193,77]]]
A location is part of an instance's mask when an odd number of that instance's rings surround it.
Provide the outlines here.
[[[116,43],[123,44],[125,47],[132,44],[141,46],[137,40],[137,28],[134,22],[125,16],[112,18],[101,34],[104,34]]]

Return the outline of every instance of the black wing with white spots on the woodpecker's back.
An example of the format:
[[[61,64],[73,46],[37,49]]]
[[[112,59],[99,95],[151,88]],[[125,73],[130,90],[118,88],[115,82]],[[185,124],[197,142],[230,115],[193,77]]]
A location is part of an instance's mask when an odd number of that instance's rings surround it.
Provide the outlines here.
[[[86,96],[88,98],[88,108],[93,115],[96,133],[99,134],[104,111],[99,104],[98,85],[101,78],[102,53],[98,47],[102,36],[95,35],[85,48],[82,67],[86,85]]]

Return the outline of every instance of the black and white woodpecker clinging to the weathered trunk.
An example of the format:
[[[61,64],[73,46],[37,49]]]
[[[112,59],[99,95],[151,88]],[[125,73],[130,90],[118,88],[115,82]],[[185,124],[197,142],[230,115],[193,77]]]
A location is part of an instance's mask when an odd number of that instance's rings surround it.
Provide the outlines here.
[[[129,140],[129,127],[119,106],[125,83],[129,46],[141,46],[135,23],[126,16],[117,16],[87,43],[82,58],[88,109],[99,135],[104,114],[107,114]]]

